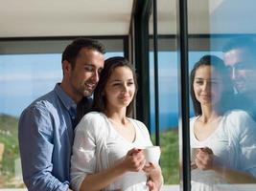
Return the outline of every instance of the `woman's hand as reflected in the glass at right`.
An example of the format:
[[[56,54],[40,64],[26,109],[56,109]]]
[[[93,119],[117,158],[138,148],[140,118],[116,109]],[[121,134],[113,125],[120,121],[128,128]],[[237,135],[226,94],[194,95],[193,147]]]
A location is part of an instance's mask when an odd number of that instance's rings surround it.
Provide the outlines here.
[[[200,148],[195,159],[196,166],[200,170],[211,170],[214,168],[214,155],[213,151],[208,148]]]

